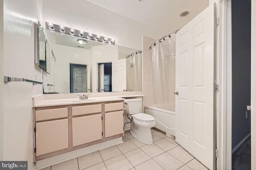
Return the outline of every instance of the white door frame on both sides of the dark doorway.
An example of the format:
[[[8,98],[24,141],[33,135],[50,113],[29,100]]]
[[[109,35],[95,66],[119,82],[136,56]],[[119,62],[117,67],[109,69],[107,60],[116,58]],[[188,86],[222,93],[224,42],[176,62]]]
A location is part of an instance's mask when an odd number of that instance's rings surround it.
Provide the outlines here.
[[[232,20],[231,20],[231,0],[220,0],[220,31],[219,31],[219,101],[218,101],[218,118],[217,118],[217,146],[219,149],[219,156],[217,159],[217,169],[225,170],[232,169]],[[252,14],[255,14],[256,4],[255,0],[252,0]],[[253,6],[254,5],[254,6]],[[252,21],[255,20],[255,16],[252,15]],[[255,45],[256,31],[252,24],[251,46]],[[254,27],[254,28],[253,28]],[[254,32],[253,32],[254,31]],[[254,33],[254,37],[253,37]],[[255,50],[251,49],[255,55]],[[251,63],[255,59],[251,59]],[[253,75],[253,74],[252,74]],[[252,91],[253,92],[253,91]],[[251,93],[252,93],[251,92]],[[253,96],[253,95],[252,95]],[[252,98],[252,97],[251,97]],[[252,101],[251,101],[252,102]],[[251,111],[251,114],[255,114],[255,111]],[[251,121],[253,118],[251,116]],[[255,127],[255,125],[254,125]],[[251,127],[252,129],[253,127]],[[252,141],[255,141],[255,137],[252,136]],[[251,142],[253,143],[253,142]],[[252,145],[251,145],[252,146]],[[256,146],[252,147],[251,159],[256,156]],[[252,169],[256,167],[256,163],[252,162]]]

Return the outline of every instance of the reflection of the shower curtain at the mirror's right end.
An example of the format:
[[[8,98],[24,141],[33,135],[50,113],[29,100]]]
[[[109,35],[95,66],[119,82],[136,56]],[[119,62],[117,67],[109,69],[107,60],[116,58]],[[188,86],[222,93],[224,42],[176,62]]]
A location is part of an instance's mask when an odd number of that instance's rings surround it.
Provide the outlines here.
[[[142,53],[136,52],[126,58],[127,91],[142,91]]]

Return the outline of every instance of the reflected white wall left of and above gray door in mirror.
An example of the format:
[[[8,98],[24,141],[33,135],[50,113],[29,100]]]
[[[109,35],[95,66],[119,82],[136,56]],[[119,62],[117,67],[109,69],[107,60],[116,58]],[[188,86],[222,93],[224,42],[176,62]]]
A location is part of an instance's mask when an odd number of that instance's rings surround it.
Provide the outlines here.
[[[70,68],[69,64],[91,65],[91,50],[78,49],[64,45],[55,45],[54,55],[56,58],[56,92],[70,92]],[[63,81],[67,81],[64,84]]]

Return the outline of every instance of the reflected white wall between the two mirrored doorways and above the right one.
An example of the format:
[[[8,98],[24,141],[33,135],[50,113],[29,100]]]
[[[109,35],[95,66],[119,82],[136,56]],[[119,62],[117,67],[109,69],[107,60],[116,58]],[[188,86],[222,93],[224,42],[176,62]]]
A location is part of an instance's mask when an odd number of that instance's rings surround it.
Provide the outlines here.
[[[98,63],[109,63],[118,60],[118,47],[100,45],[92,47],[92,92],[98,92]]]

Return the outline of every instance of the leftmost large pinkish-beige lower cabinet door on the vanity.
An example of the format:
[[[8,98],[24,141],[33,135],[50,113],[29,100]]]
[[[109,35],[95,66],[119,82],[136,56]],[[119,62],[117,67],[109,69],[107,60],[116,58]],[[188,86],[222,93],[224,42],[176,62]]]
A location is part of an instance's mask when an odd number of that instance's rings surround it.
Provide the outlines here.
[[[36,156],[68,148],[68,119],[36,123]]]

